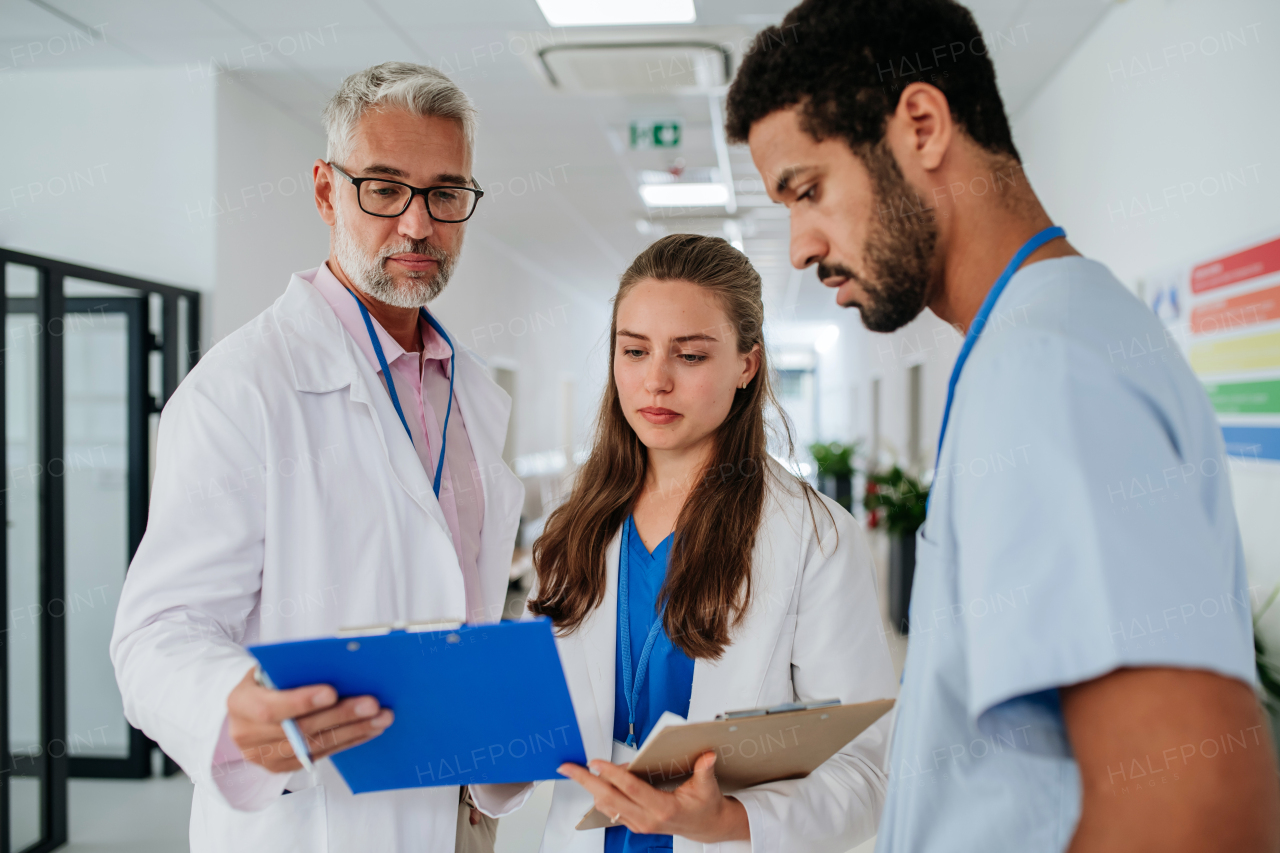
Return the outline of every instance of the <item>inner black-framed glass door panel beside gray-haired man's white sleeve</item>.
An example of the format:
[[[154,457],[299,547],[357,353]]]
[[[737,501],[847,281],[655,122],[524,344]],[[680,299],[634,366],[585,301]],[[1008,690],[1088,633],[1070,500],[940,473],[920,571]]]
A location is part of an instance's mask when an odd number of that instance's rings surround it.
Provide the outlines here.
[[[145,295],[67,279],[63,332],[67,751],[72,776],[143,777],[108,654],[147,498]],[[137,528],[137,533],[134,533]]]

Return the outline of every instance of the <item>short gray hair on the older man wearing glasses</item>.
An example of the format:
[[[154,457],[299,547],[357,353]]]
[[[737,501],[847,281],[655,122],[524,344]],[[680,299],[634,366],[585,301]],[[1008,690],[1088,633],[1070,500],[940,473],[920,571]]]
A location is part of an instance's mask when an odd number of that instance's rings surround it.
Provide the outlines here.
[[[365,110],[375,106],[398,106],[415,115],[453,119],[462,126],[467,156],[475,151],[476,108],[466,92],[430,68],[412,63],[383,63],[357,72],[325,104],[325,133],[329,163],[344,163],[351,155],[356,126]]]

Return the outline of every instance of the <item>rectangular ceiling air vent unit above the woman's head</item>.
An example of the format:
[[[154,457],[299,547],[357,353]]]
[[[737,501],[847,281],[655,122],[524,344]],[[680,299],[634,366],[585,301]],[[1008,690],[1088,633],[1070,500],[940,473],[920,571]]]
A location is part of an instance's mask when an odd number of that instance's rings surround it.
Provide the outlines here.
[[[705,92],[730,79],[728,50],[709,41],[553,45],[538,59],[552,86],[566,92]]]

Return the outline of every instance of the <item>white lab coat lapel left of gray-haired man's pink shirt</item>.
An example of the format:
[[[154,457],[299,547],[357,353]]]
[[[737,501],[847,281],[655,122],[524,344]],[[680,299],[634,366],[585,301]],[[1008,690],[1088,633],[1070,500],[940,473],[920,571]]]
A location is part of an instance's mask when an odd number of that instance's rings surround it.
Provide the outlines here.
[[[356,342],[343,329],[338,315],[319,291],[294,275],[276,304],[275,327],[289,351],[294,387],[315,393],[348,387],[351,400],[369,407],[392,476],[440,525],[452,543],[453,535],[444,520],[440,502],[422,470],[413,443],[399,424],[399,415],[396,414],[378,371],[356,347]],[[396,429],[388,432],[387,424],[394,424]]]

